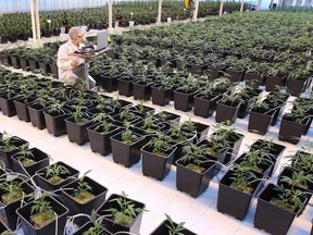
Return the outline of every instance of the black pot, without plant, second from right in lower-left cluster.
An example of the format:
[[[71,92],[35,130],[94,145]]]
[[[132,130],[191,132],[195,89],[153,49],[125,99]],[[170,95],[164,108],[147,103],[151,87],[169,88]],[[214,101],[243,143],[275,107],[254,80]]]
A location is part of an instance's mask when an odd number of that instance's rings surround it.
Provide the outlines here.
[[[103,217],[103,224],[104,226],[108,228],[108,231],[110,231],[111,233],[117,233],[117,232],[128,232],[132,234],[139,234],[140,231],[140,225],[141,225],[141,219],[142,219],[142,212],[138,213],[136,212],[136,218],[133,221],[133,224],[130,226],[125,226],[122,224],[117,224],[114,223],[113,218],[112,218],[112,213],[110,211],[107,211],[108,209],[114,209],[116,208],[117,210],[120,210],[120,206],[117,205],[116,201],[112,201],[114,199],[117,199],[118,197],[123,197],[116,194],[112,194],[108,200],[101,206],[101,208],[99,208],[99,210],[97,210],[97,214],[98,215],[104,215]],[[138,209],[145,209],[145,205],[133,200],[130,198],[127,198],[127,200],[132,201],[132,203],[134,203],[134,208],[138,208]]]

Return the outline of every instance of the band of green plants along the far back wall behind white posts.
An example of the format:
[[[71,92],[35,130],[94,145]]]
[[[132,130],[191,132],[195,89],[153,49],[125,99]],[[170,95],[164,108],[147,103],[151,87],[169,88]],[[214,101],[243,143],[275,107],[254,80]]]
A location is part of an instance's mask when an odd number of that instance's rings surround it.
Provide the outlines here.
[[[245,8],[248,4],[245,3]],[[199,4],[200,17],[206,15],[218,14],[218,2],[203,1]],[[238,2],[225,2],[225,11],[239,11]],[[135,14],[130,14],[130,13]],[[167,1],[163,3],[162,21],[166,17],[173,20],[185,20],[189,17],[189,13],[184,10],[184,1]],[[82,17],[83,15],[83,17]],[[152,24],[155,23],[158,16],[158,1],[133,1],[133,2],[114,2],[113,18],[120,22],[120,26],[128,26],[129,21],[135,21],[136,24]],[[7,13],[1,15],[0,27],[0,44],[5,44],[8,40],[15,42],[17,39],[28,40],[32,33],[30,13]],[[109,7],[62,10],[62,11],[41,11],[40,12],[40,30],[43,37],[60,35],[60,27],[67,29],[75,25],[86,25],[89,28],[103,29],[108,26]],[[49,25],[48,21],[51,23]],[[14,27],[12,27],[14,25]]]

